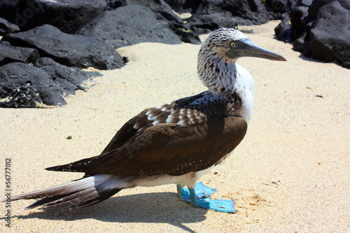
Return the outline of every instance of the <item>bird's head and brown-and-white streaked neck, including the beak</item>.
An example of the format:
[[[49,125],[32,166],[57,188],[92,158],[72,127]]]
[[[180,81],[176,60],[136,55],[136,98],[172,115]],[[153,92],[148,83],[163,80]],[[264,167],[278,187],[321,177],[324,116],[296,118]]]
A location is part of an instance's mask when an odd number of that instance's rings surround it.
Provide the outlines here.
[[[236,85],[236,79],[244,78],[244,85],[253,93],[254,81],[248,71],[244,71],[243,67],[240,68],[240,74],[237,71],[236,62],[239,57],[286,61],[281,55],[255,45],[241,31],[218,29],[207,37],[198,53],[197,73],[209,91],[232,99],[232,93],[239,86]]]

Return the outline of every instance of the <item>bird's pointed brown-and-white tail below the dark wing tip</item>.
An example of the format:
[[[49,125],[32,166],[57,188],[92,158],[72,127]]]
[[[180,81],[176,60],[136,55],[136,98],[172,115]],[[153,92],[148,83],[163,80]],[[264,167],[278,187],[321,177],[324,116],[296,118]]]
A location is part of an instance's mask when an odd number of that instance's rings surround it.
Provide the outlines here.
[[[11,197],[11,201],[20,199],[40,199],[25,209],[71,206],[71,209],[79,209],[92,206],[115,195],[123,188],[109,188],[109,175],[95,175],[71,181],[52,188],[29,192],[24,195]],[[6,202],[6,199],[0,199]]]

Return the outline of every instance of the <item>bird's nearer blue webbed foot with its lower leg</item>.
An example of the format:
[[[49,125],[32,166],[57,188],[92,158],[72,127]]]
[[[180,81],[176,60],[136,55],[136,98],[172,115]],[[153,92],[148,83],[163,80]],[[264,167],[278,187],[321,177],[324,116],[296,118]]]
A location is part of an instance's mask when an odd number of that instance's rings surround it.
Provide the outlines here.
[[[211,209],[213,211],[220,211],[226,213],[236,213],[235,207],[233,204],[235,203],[235,199],[233,200],[211,200],[210,197],[197,199],[197,195],[195,189],[190,189],[191,196],[191,204],[195,207],[203,208],[203,209]]]

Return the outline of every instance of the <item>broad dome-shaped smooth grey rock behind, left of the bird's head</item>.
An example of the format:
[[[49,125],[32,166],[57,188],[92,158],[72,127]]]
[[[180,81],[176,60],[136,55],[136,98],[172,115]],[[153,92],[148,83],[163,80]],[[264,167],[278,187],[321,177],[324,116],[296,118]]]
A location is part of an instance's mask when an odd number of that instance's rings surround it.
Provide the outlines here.
[[[131,5],[105,11],[78,34],[98,38],[115,48],[142,42],[181,43],[172,27],[162,15],[149,8]]]

